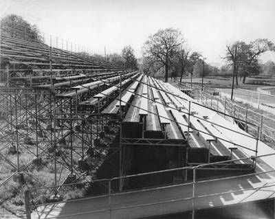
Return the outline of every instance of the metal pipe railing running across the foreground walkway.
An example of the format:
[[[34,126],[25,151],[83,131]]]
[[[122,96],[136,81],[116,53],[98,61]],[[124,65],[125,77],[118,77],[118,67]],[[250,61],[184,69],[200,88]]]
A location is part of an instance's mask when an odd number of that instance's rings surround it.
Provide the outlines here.
[[[250,160],[253,161],[256,165],[256,160],[261,158],[261,157],[268,157],[268,156],[274,156],[274,154],[265,154],[265,155],[261,155],[261,156],[252,156],[252,157],[247,157],[247,158],[243,158],[243,159],[234,159],[231,160],[230,162],[238,162],[238,161],[244,161],[244,160]],[[39,187],[39,188],[32,188],[32,189],[28,189],[25,191],[25,207],[26,207],[26,214],[27,214],[27,218],[30,219],[31,218],[31,213],[32,211],[35,212],[36,214],[49,214],[52,209],[54,209],[54,207],[57,207],[58,204],[62,204],[62,203],[75,203],[78,201],[96,201],[97,198],[103,198],[104,199],[104,206],[102,207],[98,207],[98,208],[94,208],[92,205],[89,205],[91,210],[87,210],[87,211],[82,211],[82,212],[78,212],[78,213],[74,213],[74,214],[64,214],[64,215],[60,215],[60,216],[48,216],[47,218],[67,218],[69,216],[81,216],[81,215],[87,215],[90,214],[92,216],[92,214],[97,214],[99,212],[106,214],[107,218],[113,218],[113,216],[115,214],[118,214],[118,211],[123,211],[125,209],[135,209],[135,208],[141,208],[141,207],[152,207],[152,206],[158,206],[158,207],[166,207],[168,208],[169,205],[173,205],[174,203],[184,203],[185,205],[181,205],[182,208],[177,209],[178,212],[184,212],[184,211],[192,211],[192,218],[195,218],[195,211],[196,209],[201,208],[201,205],[197,205],[196,201],[201,199],[201,198],[210,198],[212,196],[225,196],[226,194],[236,194],[237,192],[239,193],[243,193],[245,191],[249,191],[249,190],[253,190],[255,191],[255,189],[261,189],[261,188],[265,188],[265,187],[275,187],[274,184],[268,185],[267,184],[263,184],[257,187],[243,187],[241,189],[236,189],[236,185],[240,184],[240,181],[238,181],[238,179],[241,179],[244,181],[248,181],[250,177],[253,176],[257,176],[258,178],[272,178],[273,176],[270,175],[273,172],[275,172],[275,170],[270,170],[270,171],[263,171],[263,172],[254,172],[254,173],[250,173],[250,174],[243,174],[243,175],[234,175],[234,176],[228,176],[228,177],[223,177],[223,178],[214,178],[214,179],[207,179],[207,180],[203,180],[203,179],[198,179],[197,178],[197,172],[199,170],[212,170],[210,168],[207,168],[208,165],[213,165],[213,164],[221,164],[221,163],[228,163],[228,161],[221,161],[221,162],[216,162],[216,163],[205,163],[205,164],[201,164],[201,165],[196,165],[196,166],[192,166],[192,167],[184,167],[184,168],[175,168],[175,169],[170,169],[170,170],[161,170],[161,171],[155,171],[155,172],[146,172],[146,173],[142,173],[142,174],[133,174],[133,175],[129,175],[129,176],[121,176],[121,177],[115,177],[115,178],[107,178],[107,179],[100,179],[100,180],[96,180],[96,181],[92,181],[91,183],[73,183],[73,184],[67,184],[67,185],[57,185],[57,186],[51,186],[51,187]],[[145,187],[142,189],[135,189],[135,190],[126,190],[124,192],[118,192],[118,186],[116,186],[118,184],[118,181],[123,180],[123,181],[131,181],[131,178],[135,178],[136,180],[142,180],[144,179],[144,177],[146,176],[153,176],[154,178],[156,176],[159,177],[163,177],[163,176],[167,176],[167,174],[173,174],[174,173],[183,173],[183,172],[190,172],[190,180],[186,181],[185,183],[179,183],[179,184],[175,184],[175,183],[170,183],[169,185],[163,185],[163,186],[158,186],[158,187]],[[262,177],[262,175],[264,175]],[[141,178],[141,179],[140,179]],[[234,184],[234,179],[236,179],[236,183]],[[221,192],[217,192],[219,190],[217,190],[217,185],[222,185],[221,181],[230,181],[230,186],[229,187],[223,187],[221,188]],[[218,182],[218,183],[216,183]],[[215,188],[214,190],[211,191],[211,189],[201,189],[203,187],[203,184],[206,184],[207,187],[209,188],[209,186],[211,185],[211,183],[216,183],[215,185],[213,185]],[[266,183],[266,182],[263,182]],[[87,187],[87,185],[89,185],[89,187],[94,186],[97,191],[98,191],[98,187],[96,185],[101,185],[104,189],[102,190],[102,192],[100,194],[96,194],[94,196],[90,196],[90,197],[85,197],[83,195],[83,197],[81,198],[67,198],[66,200],[61,200],[58,199],[58,195],[54,194],[54,191],[58,191],[59,194],[63,194],[63,196],[66,196],[66,192],[69,193],[70,190],[72,190],[72,187]],[[146,194],[148,194],[148,192],[150,192],[150,197],[154,197],[153,195],[156,195],[157,192],[159,191],[164,191],[164,189],[171,189],[171,188],[175,188],[175,187],[179,187],[179,192],[177,196],[170,196],[168,198],[162,198],[161,196],[156,196],[156,198],[151,199],[148,198],[148,196],[146,196]],[[184,188],[184,189],[183,189]],[[47,191],[47,196],[51,196],[52,195],[52,200],[50,203],[39,203],[36,204],[34,201],[34,198],[37,197],[37,195],[39,194],[39,191],[41,190],[46,190]],[[201,192],[201,190],[203,190],[203,192]],[[184,191],[188,191],[187,194],[181,194],[181,192]],[[129,203],[124,203],[124,205],[119,205],[120,203],[118,203],[118,201],[116,200],[116,198],[121,195],[123,195],[124,197],[127,195],[131,195],[131,198],[133,198],[135,196],[135,194],[138,194],[139,196],[144,196],[147,198],[142,199],[141,203],[138,203],[138,200],[135,200],[135,202],[137,202],[136,204],[131,203],[131,201],[129,201]],[[160,200],[159,200],[160,199]],[[123,203],[122,203],[123,204]],[[191,205],[192,207],[190,208],[184,208],[184,206],[188,206]],[[41,207],[45,207],[45,209],[47,209],[47,206],[50,206],[48,208],[48,211],[43,211],[43,209],[41,209]],[[208,206],[209,207],[209,206]],[[140,210],[139,210],[140,211]],[[140,211],[141,212],[141,211]],[[120,212],[121,213],[121,212]]]

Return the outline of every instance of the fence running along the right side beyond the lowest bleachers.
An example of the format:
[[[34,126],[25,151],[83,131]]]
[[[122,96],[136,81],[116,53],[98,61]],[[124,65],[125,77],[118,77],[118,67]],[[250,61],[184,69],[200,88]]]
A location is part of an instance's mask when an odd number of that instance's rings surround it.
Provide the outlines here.
[[[257,113],[250,109],[249,106],[243,107],[232,102],[226,95],[221,95],[220,89],[203,87],[203,91],[201,91],[200,86],[193,85],[191,87],[185,83],[179,83],[178,86],[181,90],[192,90],[192,97],[201,102],[201,104],[222,113],[224,117],[236,122],[240,128],[254,137],[257,135],[257,127],[259,127],[259,140],[274,148],[275,119],[272,117]],[[259,98],[261,98],[261,95],[259,95]]]

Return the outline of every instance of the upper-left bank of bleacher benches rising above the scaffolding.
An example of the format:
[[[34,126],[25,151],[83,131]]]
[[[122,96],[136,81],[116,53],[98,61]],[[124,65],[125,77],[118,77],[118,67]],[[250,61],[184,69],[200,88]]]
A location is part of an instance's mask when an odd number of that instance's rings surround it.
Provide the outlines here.
[[[8,68],[5,65],[6,60],[9,63]],[[48,45],[11,38],[5,36],[5,32],[1,33],[1,61],[1,72],[9,71],[11,82],[16,84],[19,82],[35,85],[47,83],[51,72],[52,76],[74,76],[75,78],[67,79],[87,81],[87,76],[85,78],[80,75],[81,73],[88,74],[92,78],[108,76],[109,73],[118,71],[129,71],[124,67],[117,67],[106,60],[99,60],[83,53],[72,53],[54,47],[50,53]],[[56,77],[55,80],[61,80],[61,78]]]

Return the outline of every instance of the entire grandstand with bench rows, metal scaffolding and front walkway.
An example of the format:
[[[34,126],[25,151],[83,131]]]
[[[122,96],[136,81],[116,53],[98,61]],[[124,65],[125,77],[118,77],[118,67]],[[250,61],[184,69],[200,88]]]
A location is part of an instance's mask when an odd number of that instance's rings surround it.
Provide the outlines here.
[[[275,151],[259,127],[248,134],[235,121],[254,124],[204,106],[190,89],[5,34],[1,82],[0,186],[26,183],[45,160],[54,166],[50,185],[25,191],[28,218],[195,218],[195,210],[274,196]],[[97,178],[111,156],[118,174]],[[100,196],[62,200],[85,176],[100,182]],[[36,199],[41,189],[51,203]]]

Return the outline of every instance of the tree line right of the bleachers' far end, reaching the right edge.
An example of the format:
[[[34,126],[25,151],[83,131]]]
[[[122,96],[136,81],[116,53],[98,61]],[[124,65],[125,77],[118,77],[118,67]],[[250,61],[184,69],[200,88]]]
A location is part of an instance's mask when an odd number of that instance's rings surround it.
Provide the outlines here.
[[[236,48],[236,49],[235,49]],[[250,43],[237,41],[226,45],[225,57],[227,62],[221,68],[205,62],[205,58],[197,51],[188,48],[181,32],[174,28],[159,30],[148,36],[142,48],[142,71],[153,76],[201,77],[211,75],[231,75],[234,71],[236,84],[239,78],[263,74],[275,74],[274,62],[264,65],[259,63],[259,56],[266,51],[275,51],[274,43],[268,39],[256,39]],[[236,51],[235,51],[235,50]]]

